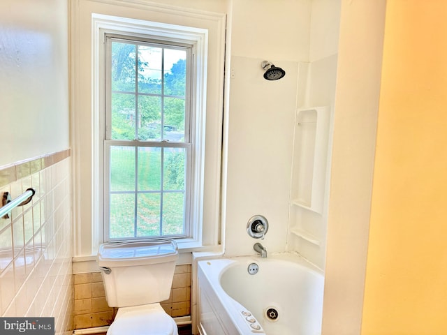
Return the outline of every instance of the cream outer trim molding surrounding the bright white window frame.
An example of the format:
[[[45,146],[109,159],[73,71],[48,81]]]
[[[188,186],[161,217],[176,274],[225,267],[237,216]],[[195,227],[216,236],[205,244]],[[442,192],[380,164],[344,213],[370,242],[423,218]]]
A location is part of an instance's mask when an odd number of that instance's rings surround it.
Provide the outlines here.
[[[175,2],[175,1],[174,1]],[[203,3],[192,0],[184,6],[168,4],[162,0],[72,0],[70,14],[70,107],[71,107],[71,155],[73,183],[73,230],[75,258],[94,257],[101,241],[98,224],[92,211],[98,210],[92,203],[95,190],[91,184],[92,153],[92,94],[91,49],[94,13],[133,17],[140,20],[168,22],[184,26],[207,29],[209,34],[207,74],[207,143],[205,148],[205,185],[203,204],[202,245],[191,243],[179,248],[182,254],[191,251],[221,250],[225,214],[226,142],[228,141],[228,95],[223,89],[228,86],[229,77],[225,68],[230,66],[230,41],[226,34],[228,8],[221,3]],[[229,26],[230,28],[230,26]]]

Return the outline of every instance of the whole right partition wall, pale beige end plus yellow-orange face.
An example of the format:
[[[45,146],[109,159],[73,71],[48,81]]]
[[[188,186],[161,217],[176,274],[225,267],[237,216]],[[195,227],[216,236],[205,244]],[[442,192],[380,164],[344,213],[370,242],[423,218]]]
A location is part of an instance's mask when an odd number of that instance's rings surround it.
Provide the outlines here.
[[[342,3],[323,334],[445,333],[446,13]]]

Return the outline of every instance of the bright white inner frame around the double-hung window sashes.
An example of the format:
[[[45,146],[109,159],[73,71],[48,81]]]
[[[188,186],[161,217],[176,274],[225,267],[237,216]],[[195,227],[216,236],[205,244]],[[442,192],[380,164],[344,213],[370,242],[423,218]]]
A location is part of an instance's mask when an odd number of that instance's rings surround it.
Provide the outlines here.
[[[193,46],[192,85],[195,87],[194,98],[191,101],[191,124],[193,136],[191,140],[196,147],[191,152],[194,166],[191,176],[191,214],[189,217],[189,237],[179,239],[179,246],[200,246],[203,228],[203,188],[205,177],[205,107],[207,82],[207,29],[184,27],[175,24],[133,20],[109,15],[92,15],[92,243],[104,236],[104,140],[105,140],[105,34],[119,34],[147,38],[152,40],[170,40]],[[96,205],[97,204],[97,205]],[[96,241],[95,241],[96,240]]]

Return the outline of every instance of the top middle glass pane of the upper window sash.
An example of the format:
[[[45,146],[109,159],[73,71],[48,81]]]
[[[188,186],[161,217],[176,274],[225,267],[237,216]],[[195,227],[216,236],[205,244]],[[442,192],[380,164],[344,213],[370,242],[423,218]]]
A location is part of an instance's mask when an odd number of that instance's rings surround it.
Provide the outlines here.
[[[138,45],[138,92],[161,94],[161,47]]]

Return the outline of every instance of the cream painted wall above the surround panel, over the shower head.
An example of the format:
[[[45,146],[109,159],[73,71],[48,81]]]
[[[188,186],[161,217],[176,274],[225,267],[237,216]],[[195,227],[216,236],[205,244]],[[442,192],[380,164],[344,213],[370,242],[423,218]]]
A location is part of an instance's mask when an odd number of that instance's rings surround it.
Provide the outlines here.
[[[232,0],[230,3],[232,56],[261,61],[309,59],[311,0]]]

